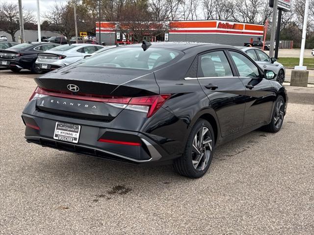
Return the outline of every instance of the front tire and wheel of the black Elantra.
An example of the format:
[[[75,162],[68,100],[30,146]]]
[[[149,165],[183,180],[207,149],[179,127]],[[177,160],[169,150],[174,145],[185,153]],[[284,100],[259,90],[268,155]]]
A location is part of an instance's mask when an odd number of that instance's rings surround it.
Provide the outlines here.
[[[268,125],[264,126],[264,130],[272,133],[278,132],[283,125],[285,117],[284,115],[285,115],[285,100],[283,96],[278,95],[275,102],[271,122]]]

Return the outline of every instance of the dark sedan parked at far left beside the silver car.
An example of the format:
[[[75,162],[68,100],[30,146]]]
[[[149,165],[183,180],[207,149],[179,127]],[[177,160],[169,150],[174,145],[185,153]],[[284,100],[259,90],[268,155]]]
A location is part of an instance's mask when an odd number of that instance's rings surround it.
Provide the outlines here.
[[[35,64],[38,54],[57,46],[59,45],[53,43],[18,44],[0,50],[0,65],[14,72],[27,69],[34,73],[41,73],[42,71]]]

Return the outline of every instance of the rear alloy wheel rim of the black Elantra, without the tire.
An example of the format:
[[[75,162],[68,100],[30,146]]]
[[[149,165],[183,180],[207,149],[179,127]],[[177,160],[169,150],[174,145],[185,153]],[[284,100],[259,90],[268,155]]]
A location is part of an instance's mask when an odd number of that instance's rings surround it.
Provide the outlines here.
[[[199,129],[192,144],[192,164],[196,170],[204,170],[209,164],[212,149],[212,138],[207,127]]]

